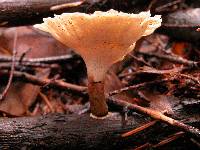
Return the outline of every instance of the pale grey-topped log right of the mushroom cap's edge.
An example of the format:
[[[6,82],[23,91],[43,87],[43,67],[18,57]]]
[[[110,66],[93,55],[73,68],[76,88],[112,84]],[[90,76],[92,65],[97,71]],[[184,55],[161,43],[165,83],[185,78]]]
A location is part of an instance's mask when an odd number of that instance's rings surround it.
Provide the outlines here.
[[[193,8],[163,15],[160,32],[178,40],[199,41],[200,34],[196,31],[200,26],[199,14],[200,8]]]

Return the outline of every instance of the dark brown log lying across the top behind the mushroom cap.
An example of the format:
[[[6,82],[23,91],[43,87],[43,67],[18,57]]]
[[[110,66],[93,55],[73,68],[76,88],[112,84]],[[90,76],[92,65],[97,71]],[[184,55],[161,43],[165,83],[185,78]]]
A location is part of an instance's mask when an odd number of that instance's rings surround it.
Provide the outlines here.
[[[0,1],[0,27],[32,25],[42,18],[63,12],[93,12],[95,10],[138,9],[141,11],[148,0],[3,0]]]

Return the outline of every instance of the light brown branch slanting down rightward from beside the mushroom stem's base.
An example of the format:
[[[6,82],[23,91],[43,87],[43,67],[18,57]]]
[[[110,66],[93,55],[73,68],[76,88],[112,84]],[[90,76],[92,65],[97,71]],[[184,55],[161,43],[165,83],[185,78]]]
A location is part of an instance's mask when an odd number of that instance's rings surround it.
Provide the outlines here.
[[[170,118],[170,117],[162,114],[159,111],[156,111],[156,110],[153,110],[153,109],[150,109],[150,108],[146,108],[146,107],[142,107],[142,106],[139,106],[139,105],[136,105],[136,104],[131,104],[129,102],[122,101],[122,100],[115,100],[113,98],[109,98],[109,102],[116,104],[116,105],[119,105],[119,106],[122,106],[122,107],[127,107],[129,109],[136,110],[136,111],[141,112],[143,114],[147,114],[154,119],[157,119],[157,120],[160,120],[160,121],[165,122],[167,124],[170,124],[174,127],[177,127],[179,129],[187,132],[187,133],[191,133],[192,135],[200,138],[200,130],[198,128],[192,127],[190,125],[186,125],[183,122],[175,120],[173,118]]]

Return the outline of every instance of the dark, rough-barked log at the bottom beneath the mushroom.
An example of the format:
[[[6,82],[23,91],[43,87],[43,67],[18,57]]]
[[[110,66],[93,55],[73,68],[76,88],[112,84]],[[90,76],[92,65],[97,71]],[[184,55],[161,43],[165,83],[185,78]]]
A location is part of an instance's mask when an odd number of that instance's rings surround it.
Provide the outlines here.
[[[123,126],[120,116],[96,120],[89,114],[1,119],[0,149],[108,149],[119,145],[120,133],[144,123],[143,119],[136,120],[129,118]]]

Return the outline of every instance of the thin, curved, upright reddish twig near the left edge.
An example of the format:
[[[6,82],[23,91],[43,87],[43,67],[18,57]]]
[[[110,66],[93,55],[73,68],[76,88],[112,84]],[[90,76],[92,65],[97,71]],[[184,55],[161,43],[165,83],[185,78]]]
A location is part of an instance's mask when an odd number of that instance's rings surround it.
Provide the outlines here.
[[[11,65],[11,71],[10,71],[10,75],[9,75],[9,79],[8,79],[8,83],[4,89],[4,91],[2,92],[2,94],[0,95],[0,100],[3,100],[7,93],[8,90],[10,88],[10,85],[12,83],[12,79],[13,79],[13,73],[15,71],[15,57],[17,54],[17,49],[16,49],[16,44],[17,44],[17,30],[15,31],[15,35],[14,35],[14,42],[13,42],[13,56],[12,56],[12,65]]]

